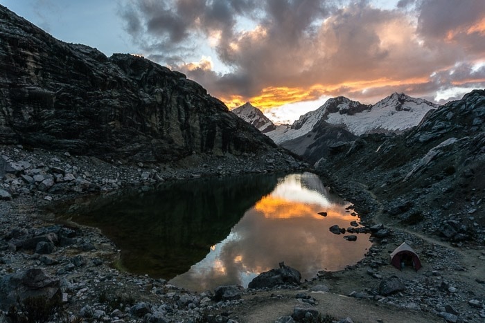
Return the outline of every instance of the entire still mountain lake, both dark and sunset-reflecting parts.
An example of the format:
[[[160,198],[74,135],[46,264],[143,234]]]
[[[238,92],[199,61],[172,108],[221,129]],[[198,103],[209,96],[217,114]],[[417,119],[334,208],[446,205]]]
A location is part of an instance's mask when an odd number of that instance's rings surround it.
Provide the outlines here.
[[[328,230],[358,221],[347,206],[315,174],[268,174],[103,198],[72,220],[101,228],[121,249],[126,270],[201,291],[247,287],[281,261],[303,278],[355,264],[371,245],[369,236],[346,241]]]

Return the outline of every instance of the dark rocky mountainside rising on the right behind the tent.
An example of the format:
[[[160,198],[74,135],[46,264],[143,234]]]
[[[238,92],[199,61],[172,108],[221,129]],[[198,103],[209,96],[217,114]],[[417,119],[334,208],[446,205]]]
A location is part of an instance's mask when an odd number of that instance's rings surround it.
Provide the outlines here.
[[[430,111],[405,133],[371,133],[336,147],[317,169],[367,187],[382,212],[404,225],[483,243],[485,90]]]

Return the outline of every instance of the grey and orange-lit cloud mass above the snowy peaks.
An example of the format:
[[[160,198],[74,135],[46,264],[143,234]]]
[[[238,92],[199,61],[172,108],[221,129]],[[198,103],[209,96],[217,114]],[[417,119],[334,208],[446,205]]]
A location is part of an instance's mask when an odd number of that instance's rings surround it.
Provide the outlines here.
[[[485,57],[485,1],[400,0],[397,7],[380,10],[369,1],[132,0],[121,17],[149,57],[225,99],[274,98],[285,89],[298,100],[315,100],[483,87],[473,64]],[[240,29],[240,21],[249,21],[249,30]],[[207,62],[190,63],[214,53],[224,73]]]

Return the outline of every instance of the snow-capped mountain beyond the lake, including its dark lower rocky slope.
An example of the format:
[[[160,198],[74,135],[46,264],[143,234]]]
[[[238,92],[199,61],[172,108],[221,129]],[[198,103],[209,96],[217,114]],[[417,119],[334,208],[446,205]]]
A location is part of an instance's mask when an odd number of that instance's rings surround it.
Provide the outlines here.
[[[403,133],[439,106],[404,93],[393,93],[376,104],[332,98],[315,111],[267,134],[274,142],[315,163],[333,149],[367,133]]]

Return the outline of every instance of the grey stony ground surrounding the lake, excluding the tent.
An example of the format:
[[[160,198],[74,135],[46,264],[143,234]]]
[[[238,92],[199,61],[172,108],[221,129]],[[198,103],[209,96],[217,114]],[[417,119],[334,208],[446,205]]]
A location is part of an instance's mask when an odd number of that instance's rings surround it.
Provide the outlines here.
[[[159,181],[294,171],[303,167],[297,160],[195,155],[157,168],[21,146],[2,146],[1,155],[0,293],[4,297],[0,322],[27,318],[41,322],[403,322],[403,315],[414,322],[481,322],[485,318],[483,246],[453,247],[392,223],[376,226],[374,221],[385,219],[382,205],[367,190],[345,181],[339,192],[353,196],[355,205],[361,205],[356,211],[362,223],[380,234],[373,235],[371,250],[355,266],[336,273],[321,271],[300,284],[283,279],[247,289],[225,286],[193,293],[164,279],[117,270],[113,264],[119,250],[99,230],[56,221],[46,211],[75,196],[123,187],[147,189]],[[423,268],[418,273],[389,265],[389,252],[402,241],[420,254]]]

